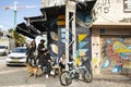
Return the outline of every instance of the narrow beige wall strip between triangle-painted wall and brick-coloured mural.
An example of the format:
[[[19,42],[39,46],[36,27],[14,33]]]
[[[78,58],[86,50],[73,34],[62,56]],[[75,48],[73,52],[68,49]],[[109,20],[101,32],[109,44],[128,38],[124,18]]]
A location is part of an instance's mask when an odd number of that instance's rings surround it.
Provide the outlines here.
[[[94,28],[92,30],[92,67],[94,74],[100,73],[100,38],[99,29]]]

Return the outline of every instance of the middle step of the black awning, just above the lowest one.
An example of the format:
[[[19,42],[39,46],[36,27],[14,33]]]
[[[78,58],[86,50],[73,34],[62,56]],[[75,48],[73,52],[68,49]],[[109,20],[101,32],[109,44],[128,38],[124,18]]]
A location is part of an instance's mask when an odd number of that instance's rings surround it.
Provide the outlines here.
[[[48,30],[47,27],[46,27],[46,17],[44,15],[24,17],[24,20],[27,21],[28,25],[33,25],[40,33]]]

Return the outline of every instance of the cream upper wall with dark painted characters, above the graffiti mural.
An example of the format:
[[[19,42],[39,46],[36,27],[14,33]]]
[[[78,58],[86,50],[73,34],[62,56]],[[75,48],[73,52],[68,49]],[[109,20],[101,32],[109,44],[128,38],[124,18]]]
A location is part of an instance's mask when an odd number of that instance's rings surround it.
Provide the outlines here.
[[[123,17],[131,17],[131,12],[126,13],[123,11],[123,1],[131,2],[131,0],[97,0],[94,7],[97,17],[96,22],[116,23],[123,20]]]

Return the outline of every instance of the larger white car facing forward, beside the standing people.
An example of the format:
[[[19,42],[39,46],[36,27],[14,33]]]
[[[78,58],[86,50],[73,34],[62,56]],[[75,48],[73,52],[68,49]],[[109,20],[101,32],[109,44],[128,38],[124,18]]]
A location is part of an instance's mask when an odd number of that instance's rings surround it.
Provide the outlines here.
[[[5,59],[7,65],[25,65],[26,47],[14,48]]]

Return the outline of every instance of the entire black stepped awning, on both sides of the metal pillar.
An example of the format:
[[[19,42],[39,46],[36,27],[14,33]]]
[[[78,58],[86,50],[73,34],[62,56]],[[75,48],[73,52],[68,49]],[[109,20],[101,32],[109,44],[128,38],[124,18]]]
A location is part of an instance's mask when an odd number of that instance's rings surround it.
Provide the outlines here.
[[[76,3],[76,12],[91,12],[96,0],[83,1]],[[29,38],[35,38],[40,32],[48,32],[49,28],[53,26],[53,29],[57,27],[57,17],[58,15],[66,14],[66,4],[47,7],[40,9],[43,15],[24,17],[26,20],[27,25],[25,23],[19,24],[16,27],[16,32],[21,33]],[[56,23],[55,23],[56,22]],[[32,26],[32,27],[31,27]]]

